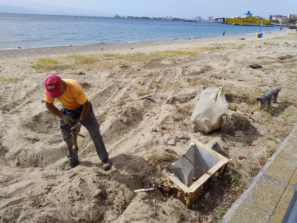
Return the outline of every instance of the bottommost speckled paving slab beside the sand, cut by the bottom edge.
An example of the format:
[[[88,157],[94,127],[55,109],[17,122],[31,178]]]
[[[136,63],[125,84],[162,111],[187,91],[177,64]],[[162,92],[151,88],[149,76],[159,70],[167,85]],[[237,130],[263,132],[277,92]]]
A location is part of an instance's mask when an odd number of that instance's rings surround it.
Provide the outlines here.
[[[259,208],[253,206],[248,201],[243,201],[236,209],[232,217],[227,221],[228,223],[267,223],[269,216],[267,216]]]

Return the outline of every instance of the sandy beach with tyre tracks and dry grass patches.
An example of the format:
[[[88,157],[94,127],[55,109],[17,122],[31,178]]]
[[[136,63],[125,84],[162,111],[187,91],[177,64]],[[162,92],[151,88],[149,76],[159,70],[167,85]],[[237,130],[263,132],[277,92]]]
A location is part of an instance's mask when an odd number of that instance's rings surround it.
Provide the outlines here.
[[[1,222],[217,222],[296,124],[296,47],[297,34],[286,29],[263,38],[0,50]],[[263,68],[252,69],[250,62]],[[103,171],[85,128],[86,138],[78,138],[80,163],[64,171],[66,144],[58,118],[45,108],[49,74],[75,79],[85,90],[113,162],[110,171]],[[189,120],[200,92],[220,86],[228,114],[242,112],[250,125],[236,136],[195,132]],[[275,86],[281,87],[277,103],[258,111],[255,98]],[[151,98],[135,101],[145,95]],[[187,151],[189,140],[168,145],[182,135],[217,141],[219,153],[232,159],[229,175],[190,209],[157,189],[133,193],[153,187],[162,169]],[[152,156],[164,154],[154,162]]]

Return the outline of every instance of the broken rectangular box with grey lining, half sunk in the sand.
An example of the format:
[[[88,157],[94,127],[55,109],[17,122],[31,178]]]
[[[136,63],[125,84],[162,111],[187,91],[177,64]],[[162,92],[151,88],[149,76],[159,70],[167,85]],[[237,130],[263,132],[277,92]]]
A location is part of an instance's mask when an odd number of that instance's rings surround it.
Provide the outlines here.
[[[163,193],[173,195],[188,208],[207,187],[210,179],[225,170],[228,159],[206,145],[192,140],[188,151],[164,170],[159,188]]]

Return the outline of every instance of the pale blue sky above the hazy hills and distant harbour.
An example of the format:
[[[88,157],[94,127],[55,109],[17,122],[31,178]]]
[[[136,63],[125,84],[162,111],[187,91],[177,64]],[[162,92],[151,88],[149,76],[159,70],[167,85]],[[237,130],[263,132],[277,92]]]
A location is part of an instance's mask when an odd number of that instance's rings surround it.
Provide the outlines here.
[[[12,1],[12,0],[7,0]],[[173,16],[194,18],[201,16],[243,16],[250,11],[253,15],[268,18],[269,15],[297,14],[297,0],[25,0],[54,6],[75,7],[119,15],[160,17]],[[1,9],[0,9],[1,10]],[[234,12],[233,12],[234,11]]]

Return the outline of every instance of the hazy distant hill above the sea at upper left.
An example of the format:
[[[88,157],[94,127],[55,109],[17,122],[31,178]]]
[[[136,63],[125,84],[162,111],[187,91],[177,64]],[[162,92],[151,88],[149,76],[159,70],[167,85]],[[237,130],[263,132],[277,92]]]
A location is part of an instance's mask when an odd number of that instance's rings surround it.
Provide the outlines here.
[[[99,12],[89,9],[73,7],[60,7],[43,3],[31,3],[25,1],[0,0],[0,12],[4,13],[30,13],[50,15],[85,15],[85,16],[106,16],[112,17],[114,13]]]

